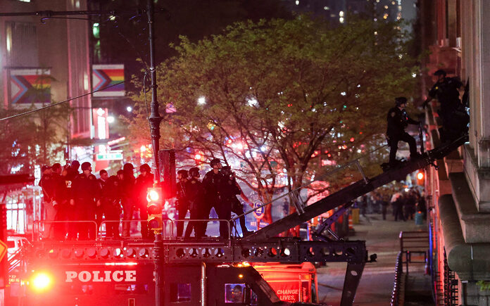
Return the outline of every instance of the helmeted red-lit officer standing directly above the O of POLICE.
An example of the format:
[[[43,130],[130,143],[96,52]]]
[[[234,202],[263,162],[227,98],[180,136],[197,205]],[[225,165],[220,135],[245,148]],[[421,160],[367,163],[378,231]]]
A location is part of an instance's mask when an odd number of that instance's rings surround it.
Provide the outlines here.
[[[77,220],[95,221],[95,208],[101,205],[100,189],[90,162],[82,163],[82,174],[78,174],[73,181],[70,205],[74,207]],[[77,224],[76,229],[80,240],[96,238],[94,226],[88,222]]]

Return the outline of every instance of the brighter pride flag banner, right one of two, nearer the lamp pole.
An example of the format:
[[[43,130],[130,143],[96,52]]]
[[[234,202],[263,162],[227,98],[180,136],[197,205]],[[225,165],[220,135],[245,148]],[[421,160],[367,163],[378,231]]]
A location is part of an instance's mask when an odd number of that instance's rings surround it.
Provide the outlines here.
[[[124,65],[92,65],[94,97],[124,96]]]

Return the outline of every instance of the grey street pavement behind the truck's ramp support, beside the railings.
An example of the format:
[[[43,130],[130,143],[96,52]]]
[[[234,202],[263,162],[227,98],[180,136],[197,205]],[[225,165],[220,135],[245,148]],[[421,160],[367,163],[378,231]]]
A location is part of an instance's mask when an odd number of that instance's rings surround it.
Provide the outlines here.
[[[375,214],[360,217],[360,224],[354,224],[355,235],[349,236],[348,239],[351,241],[365,240],[368,255],[376,253],[377,262],[370,262],[365,265],[354,305],[389,305],[394,286],[396,255],[400,250],[398,234],[400,231],[425,231],[426,229],[425,225],[415,225],[413,220],[395,222],[391,215],[387,216],[387,220],[383,220],[381,215]],[[320,302],[333,306],[340,305],[346,265],[344,262],[327,262],[327,267],[320,267],[317,270]],[[430,290],[430,276],[423,277],[425,273],[424,264],[410,265],[409,272],[405,286],[408,290],[406,298],[415,294],[419,290],[417,289],[419,285],[420,288],[429,288]],[[429,280],[428,285],[425,283],[427,278]],[[406,301],[411,302],[410,299],[406,299]],[[430,304],[407,303],[406,305]]]

